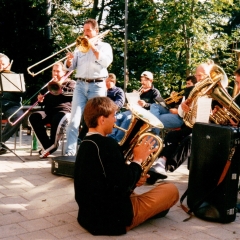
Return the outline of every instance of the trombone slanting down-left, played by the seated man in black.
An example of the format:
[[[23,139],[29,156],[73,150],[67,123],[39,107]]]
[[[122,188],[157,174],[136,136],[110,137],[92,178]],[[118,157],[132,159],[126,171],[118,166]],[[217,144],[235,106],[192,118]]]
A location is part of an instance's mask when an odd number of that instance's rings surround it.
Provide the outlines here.
[[[63,76],[63,79],[61,80],[62,82],[64,82],[65,79],[67,79],[71,74],[72,71],[69,71],[67,74],[65,74]],[[42,89],[44,89],[45,87],[47,87],[52,81],[54,80],[54,78],[52,78],[49,82],[47,82],[38,92],[40,92]],[[43,95],[43,97],[45,97],[48,93],[50,93],[51,90],[48,88],[48,91]],[[35,96],[36,94],[34,94]],[[53,95],[56,95],[56,93],[54,92]],[[30,98],[31,99],[31,98]],[[14,122],[11,122],[11,118],[17,113],[19,112],[23,106],[21,106],[19,109],[17,109],[11,116],[8,117],[8,122],[13,126],[16,123],[18,123],[21,119],[23,119],[35,106],[37,106],[39,103],[39,101],[36,101],[30,108],[28,108],[28,110],[26,112],[23,113],[23,115],[21,115],[19,118],[17,118]]]

